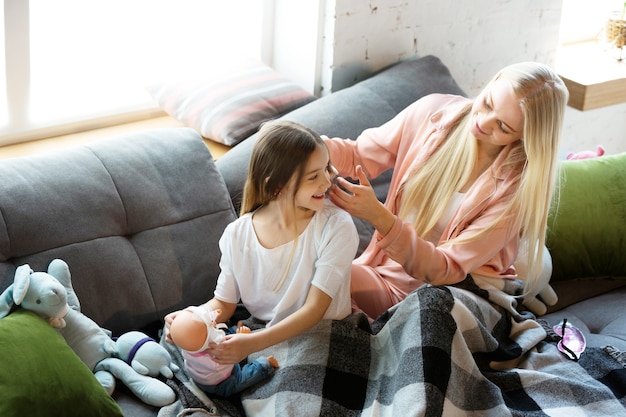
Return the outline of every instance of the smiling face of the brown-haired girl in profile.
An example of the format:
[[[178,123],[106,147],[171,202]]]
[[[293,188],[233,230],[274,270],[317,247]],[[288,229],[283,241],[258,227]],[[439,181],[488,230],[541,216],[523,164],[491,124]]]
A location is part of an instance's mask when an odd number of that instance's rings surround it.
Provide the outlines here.
[[[325,146],[317,146],[309,156],[304,169],[304,176],[295,192],[296,208],[305,211],[318,211],[324,207],[326,191],[330,188],[334,177],[334,168],[330,165],[328,150]],[[289,188],[293,189],[294,178]],[[288,195],[293,195],[291,192]]]

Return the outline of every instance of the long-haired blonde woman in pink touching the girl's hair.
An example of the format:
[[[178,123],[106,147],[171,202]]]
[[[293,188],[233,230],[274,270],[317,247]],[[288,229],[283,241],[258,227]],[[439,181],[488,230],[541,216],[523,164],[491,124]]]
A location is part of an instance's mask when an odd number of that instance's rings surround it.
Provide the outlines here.
[[[424,283],[468,274],[520,278],[529,304],[544,289],[556,302],[544,242],[567,99],[548,66],[518,63],[474,100],[429,95],[356,141],[324,138],[339,175],[359,180],[339,178],[331,200],[376,229],[352,266],[353,309],[376,318]],[[389,168],[383,204],[368,178]]]

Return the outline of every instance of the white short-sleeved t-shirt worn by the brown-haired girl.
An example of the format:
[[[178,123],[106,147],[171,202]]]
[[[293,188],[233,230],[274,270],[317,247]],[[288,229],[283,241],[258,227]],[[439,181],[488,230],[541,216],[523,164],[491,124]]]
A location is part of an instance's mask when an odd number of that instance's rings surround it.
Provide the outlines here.
[[[226,227],[220,239],[221,273],[215,297],[227,303],[241,300],[253,317],[267,326],[304,305],[311,285],[332,298],[325,319],[343,319],[351,310],[350,269],[359,237],[352,217],[327,203],[298,236],[289,275],[281,280],[292,242],[273,249],[263,247],[247,213]]]

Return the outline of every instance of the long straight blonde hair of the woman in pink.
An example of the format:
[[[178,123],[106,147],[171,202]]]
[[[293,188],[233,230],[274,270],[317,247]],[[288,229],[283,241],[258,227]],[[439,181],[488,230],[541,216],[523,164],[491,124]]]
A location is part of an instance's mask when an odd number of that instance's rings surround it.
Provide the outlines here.
[[[550,67],[536,62],[507,66],[490,84],[499,79],[511,84],[524,116],[522,139],[512,145],[504,161],[504,165],[521,167],[519,188],[508,208],[489,227],[471,237],[457,237],[445,244],[477,239],[508,216],[511,225],[519,225],[521,244],[527,245],[525,290],[530,292],[542,269],[543,245],[557,175],[559,139],[569,94],[561,78]],[[448,139],[405,184],[400,217],[417,214],[415,229],[424,238],[443,215],[452,195],[468,181],[476,163],[477,140],[470,134],[470,112],[471,103],[452,126]]]

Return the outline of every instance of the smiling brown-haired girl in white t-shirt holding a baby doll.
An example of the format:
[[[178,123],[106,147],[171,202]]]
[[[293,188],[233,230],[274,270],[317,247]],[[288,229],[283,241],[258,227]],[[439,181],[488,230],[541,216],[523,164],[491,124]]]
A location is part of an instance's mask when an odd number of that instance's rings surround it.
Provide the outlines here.
[[[225,322],[241,301],[266,322],[252,333],[227,335],[207,352],[232,364],[292,338],[321,319],[351,312],[350,265],[358,234],[349,214],[328,202],[335,170],[315,132],[294,122],[259,130],[244,187],[241,215],[220,239],[222,259],[214,296],[202,307]],[[178,312],[165,317],[169,325]]]

